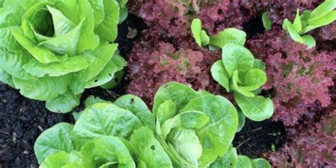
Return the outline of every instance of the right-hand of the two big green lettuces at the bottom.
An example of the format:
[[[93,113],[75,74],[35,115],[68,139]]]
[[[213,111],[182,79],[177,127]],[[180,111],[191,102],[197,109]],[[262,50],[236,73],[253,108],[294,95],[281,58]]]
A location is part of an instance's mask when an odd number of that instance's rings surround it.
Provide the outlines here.
[[[174,167],[208,167],[228,151],[238,126],[235,106],[223,96],[176,82],[159,88],[153,114]]]

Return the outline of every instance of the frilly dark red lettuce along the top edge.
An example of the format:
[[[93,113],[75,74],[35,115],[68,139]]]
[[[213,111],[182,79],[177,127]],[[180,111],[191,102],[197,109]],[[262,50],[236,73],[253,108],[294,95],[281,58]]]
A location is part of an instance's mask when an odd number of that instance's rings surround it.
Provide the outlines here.
[[[243,21],[256,15],[238,0],[130,0],[128,6],[130,13],[143,18],[156,33],[174,38],[191,33],[193,18],[200,18],[212,35],[228,27],[242,28]]]

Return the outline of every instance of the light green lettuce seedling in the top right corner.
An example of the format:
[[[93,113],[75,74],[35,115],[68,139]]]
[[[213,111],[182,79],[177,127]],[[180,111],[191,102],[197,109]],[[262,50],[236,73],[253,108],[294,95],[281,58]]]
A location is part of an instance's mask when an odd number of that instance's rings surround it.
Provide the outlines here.
[[[311,35],[305,35],[310,30],[325,26],[336,20],[336,1],[326,0],[313,11],[303,11],[300,15],[299,9],[296,11],[296,17],[291,23],[287,18],[282,24],[291,38],[298,43],[307,45],[308,49],[316,45],[315,39]]]

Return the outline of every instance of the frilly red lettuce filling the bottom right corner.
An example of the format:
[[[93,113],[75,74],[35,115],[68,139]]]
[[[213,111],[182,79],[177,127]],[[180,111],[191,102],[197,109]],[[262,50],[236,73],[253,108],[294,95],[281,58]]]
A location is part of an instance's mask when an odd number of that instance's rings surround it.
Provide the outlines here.
[[[289,140],[284,147],[269,154],[271,164],[278,168],[336,167],[335,105],[320,111],[322,115],[327,113],[322,119],[315,115],[305,124],[287,128]]]

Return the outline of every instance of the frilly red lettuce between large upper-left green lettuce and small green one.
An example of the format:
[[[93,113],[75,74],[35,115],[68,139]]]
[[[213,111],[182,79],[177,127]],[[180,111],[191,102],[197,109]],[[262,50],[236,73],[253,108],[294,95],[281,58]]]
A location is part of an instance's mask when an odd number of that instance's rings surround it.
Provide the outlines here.
[[[196,90],[220,91],[209,73],[213,62],[220,59],[220,52],[198,47],[192,38],[173,45],[151,35],[150,30],[145,34],[129,55],[129,94],[151,105],[159,86],[170,81],[190,84]]]

